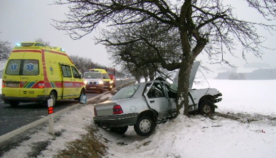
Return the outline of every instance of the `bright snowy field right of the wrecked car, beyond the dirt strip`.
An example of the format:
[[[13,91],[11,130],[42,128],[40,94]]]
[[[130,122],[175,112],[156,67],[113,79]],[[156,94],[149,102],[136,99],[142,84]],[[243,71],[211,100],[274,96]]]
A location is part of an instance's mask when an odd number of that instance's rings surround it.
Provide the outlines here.
[[[276,114],[276,80],[208,79],[193,88],[216,88],[222,93],[218,111]]]

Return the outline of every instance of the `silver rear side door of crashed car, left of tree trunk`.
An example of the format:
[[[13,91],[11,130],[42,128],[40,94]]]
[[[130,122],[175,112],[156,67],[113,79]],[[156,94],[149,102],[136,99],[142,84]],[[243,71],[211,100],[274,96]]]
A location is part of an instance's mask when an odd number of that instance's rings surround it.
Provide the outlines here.
[[[166,118],[170,107],[170,101],[167,98],[165,89],[160,82],[152,82],[146,85],[144,93],[147,104],[150,108],[156,110],[159,118]]]

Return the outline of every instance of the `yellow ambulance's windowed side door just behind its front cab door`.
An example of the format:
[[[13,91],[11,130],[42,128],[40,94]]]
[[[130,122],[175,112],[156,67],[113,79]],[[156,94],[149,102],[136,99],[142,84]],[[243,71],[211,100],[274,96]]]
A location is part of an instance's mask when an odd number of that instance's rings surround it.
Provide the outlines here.
[[[74,81],[72,78],[71,68],[70,65],[61,64],[61,71],[62,71],[62,98],[63,99],[70,99],[73,98],[75,94],[73,93],[74,90]]]

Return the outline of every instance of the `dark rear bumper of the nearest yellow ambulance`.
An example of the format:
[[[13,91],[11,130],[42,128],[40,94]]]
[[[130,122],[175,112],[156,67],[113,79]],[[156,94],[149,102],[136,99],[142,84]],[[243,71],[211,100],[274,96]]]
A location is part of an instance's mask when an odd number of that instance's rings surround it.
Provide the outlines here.
[[[1,96],[1,99],[8,103],[9,101],[17,101],[17,102],[44,102],[48,100],[47,95],[37,96],[37,97],[6,97],[4,95]]]

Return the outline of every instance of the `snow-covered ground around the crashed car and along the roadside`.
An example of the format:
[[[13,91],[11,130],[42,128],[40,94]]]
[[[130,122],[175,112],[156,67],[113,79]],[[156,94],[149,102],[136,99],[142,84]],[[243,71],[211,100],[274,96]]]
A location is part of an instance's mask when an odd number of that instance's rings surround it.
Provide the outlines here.
[[[152,135],[138,136],[133,127],[122,136],[100,129],[99,137],[108,146],[108,158],[276,158],[276,80],[209,79],[211,88],[223,94],[217,103],[220,113],[239,117],[240,121],[201,115],[183,115],[158,124]],[[193,88],[206,88],[208,84]],[[102,98],[110,97],[109,94]],[[53,138],[48,128],[40,130],[3,155],[3,158],[26,158],[36,142],[50,143],[39,158],[52,158],[66,149],[68,142],[81,138],[86,126],[93,123],[93,105],[62,114],[55,122]],[[250,121],[251,120],[251,121]],[[252,121],[255,120],[255,121]]]

